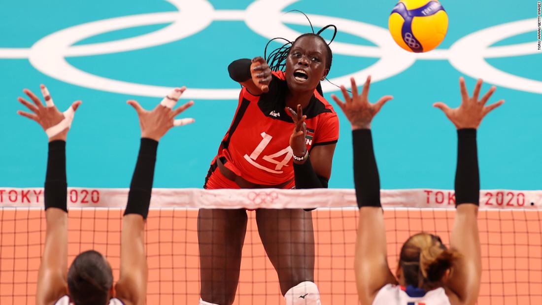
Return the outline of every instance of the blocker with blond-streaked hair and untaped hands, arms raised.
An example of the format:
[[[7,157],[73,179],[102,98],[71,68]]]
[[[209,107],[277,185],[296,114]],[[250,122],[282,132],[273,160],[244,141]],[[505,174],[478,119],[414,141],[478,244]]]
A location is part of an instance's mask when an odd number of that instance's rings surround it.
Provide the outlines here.
[[[355,263],[359,299],[367,305],[474,304],[482,268],[476,219],[480,196],[476,129],[483,117],[504,101],[485,106],[495,87],[479,99],[482,80],[469,96],[461,77],[461,105],[451,109],[442,102],[434,104],[457,128],[456,213],[450,248],[438,236],[413,235],[402,246],[394,276],[386,254],[380,182],[371,137],[371,120],[384,102],[369,103],[369,85],[370,77],[358,95],[352,79],[352,97],[344,87],[341,90],[345,102],[333,96],[352,124],[354,183],[360,208]]]

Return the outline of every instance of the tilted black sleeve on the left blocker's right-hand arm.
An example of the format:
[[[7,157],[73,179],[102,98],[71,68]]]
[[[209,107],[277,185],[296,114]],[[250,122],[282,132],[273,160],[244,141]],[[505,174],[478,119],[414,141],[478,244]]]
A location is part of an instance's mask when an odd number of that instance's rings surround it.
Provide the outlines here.
[[[152,180],[154,179],[157,150],[157,141],[141,138],[141,146],[139,147],[139,155],[135,164],[124,215],[139,214],[143,216],[143,219],[147,218],[149,206],[151,205]]]

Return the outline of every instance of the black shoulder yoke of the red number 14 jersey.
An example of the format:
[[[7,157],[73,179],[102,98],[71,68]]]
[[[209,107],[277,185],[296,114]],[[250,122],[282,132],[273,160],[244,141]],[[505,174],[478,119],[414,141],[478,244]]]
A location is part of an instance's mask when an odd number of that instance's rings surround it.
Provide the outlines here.
[[[286,84],[286,81],[273,75],[273,80],[269,86],[269,92],[260,95],[260,100],[258,101],[258,107],[260,107],[260,111],[263,115],[288,123],[294,122],[284,110],[286,107],[285,96],[287,90],[288,85]],[[311,119],[324,112],[331,112],[331,110],[327,109],[324,103],[313,95],[303,114],[307,116],[307,119]]]

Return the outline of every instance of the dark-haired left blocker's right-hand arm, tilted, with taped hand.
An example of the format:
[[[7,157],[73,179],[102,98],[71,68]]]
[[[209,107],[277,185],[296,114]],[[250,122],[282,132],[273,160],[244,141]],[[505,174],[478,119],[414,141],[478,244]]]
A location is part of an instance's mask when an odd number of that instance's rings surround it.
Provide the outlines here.
[[[115,285],[117,297],[126,305],[145,304],[149,272],[145,256],[145,220],[151,204],[158,141],[171,127],[194,121],[193,119],[175,120],[177,114],[193,105],[190,101],[173,110],[184,89],[184,87],[175,88],[152,111],[145,110],[137,101],[127,102],[138,114],[141,144],[122,219],[120,277]],[[182,124],[177,124],[177,122]]]

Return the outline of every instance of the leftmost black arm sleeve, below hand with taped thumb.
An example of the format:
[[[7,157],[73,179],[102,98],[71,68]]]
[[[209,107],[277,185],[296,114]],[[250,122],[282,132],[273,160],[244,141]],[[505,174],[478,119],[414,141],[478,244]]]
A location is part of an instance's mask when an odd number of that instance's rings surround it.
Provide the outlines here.
[[[66,142],[56,140],[49,142],[47,157],[47,174],[43,197],[45,209],[56,207],[68,212],[68,183],[66,182]]]

